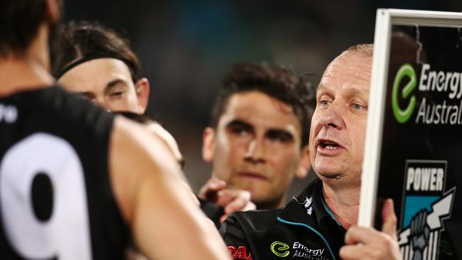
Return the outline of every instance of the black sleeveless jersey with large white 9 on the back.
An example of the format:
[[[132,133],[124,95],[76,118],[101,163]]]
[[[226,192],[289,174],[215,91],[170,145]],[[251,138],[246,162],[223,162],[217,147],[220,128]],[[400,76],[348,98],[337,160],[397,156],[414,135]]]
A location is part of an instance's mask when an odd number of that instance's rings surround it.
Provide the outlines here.
[[[113,121],[60,87],[0,97],[0,259],[123,259]]]

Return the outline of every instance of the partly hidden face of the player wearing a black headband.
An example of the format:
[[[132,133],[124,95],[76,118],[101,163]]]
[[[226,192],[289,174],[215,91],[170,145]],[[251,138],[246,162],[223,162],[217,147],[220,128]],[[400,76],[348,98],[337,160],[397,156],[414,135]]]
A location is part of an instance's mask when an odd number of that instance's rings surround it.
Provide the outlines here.
[[[141,114],[144,110],[139,105],[129,68],[121,60],[89,60],[66,72],[58,84],[110,111]]]

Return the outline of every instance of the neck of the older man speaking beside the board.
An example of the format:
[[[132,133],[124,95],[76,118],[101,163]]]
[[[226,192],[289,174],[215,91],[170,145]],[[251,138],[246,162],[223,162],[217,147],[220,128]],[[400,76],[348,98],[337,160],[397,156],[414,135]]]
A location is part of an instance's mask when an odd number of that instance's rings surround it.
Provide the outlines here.
[[[360,188],[333,189],[331,186],[324,184],[323,197],[327,207],[342,227],[348,229],[358,222]]]

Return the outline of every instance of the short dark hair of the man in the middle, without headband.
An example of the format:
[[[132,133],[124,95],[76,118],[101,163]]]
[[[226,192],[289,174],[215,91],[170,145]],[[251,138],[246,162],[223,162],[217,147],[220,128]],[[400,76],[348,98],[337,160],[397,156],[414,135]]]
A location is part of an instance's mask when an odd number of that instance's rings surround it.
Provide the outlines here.
[[[218,121],[233,94],[258,91],[288,104],[301,126],[301,147],[308,143],[311,115],[313,114],[313,89],[303,77],[280,65],[254,65],[237,63],[225,75],[222,88],[212,109],[210,126],[217,128]]]

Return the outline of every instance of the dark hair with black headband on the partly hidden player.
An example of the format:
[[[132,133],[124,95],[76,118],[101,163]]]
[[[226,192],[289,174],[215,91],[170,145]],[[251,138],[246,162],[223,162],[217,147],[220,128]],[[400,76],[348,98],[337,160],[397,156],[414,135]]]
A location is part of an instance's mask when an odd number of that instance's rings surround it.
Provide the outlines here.
[[[60,43],[54,50],[52,72],[61,76],[68,65],[87,58],[116,58],[129,67],[131,80],[136,82],[141,65],[131,50],[129,40],[96,22],[70,22],[63,26]]]

